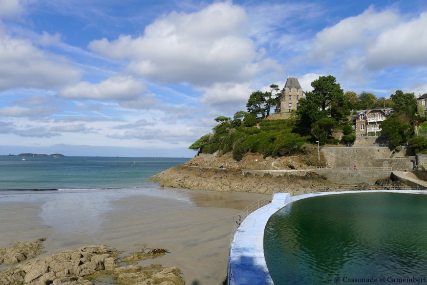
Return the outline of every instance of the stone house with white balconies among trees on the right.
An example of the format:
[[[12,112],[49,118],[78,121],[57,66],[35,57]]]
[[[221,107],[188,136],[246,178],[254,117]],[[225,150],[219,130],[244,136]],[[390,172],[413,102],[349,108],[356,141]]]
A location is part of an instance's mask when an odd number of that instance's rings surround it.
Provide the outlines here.
[[[393,109],[382,109],[380,107],[357,111],[355,118],[356,136],[368,134],[379,135],[379,132],[381,132],[381,122],[386,120],[393,112]]]

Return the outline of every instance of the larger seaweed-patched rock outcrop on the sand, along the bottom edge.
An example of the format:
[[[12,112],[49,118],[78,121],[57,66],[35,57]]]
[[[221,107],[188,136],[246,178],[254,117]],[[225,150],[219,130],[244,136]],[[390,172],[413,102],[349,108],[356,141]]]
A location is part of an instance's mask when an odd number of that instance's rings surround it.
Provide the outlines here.
[[[142,250],[138,256],[142,260],[167,252],[156,249],[144,257]],[[117,265],[119,254],[116,249],[99,244],[66,250],[0,272],[0,285],[93,285],[91,280],[109,280],[107,283],[110,284],[112,279],[121,285],[184,284],[176,267],[142,267],[137,264],[120,267]]]

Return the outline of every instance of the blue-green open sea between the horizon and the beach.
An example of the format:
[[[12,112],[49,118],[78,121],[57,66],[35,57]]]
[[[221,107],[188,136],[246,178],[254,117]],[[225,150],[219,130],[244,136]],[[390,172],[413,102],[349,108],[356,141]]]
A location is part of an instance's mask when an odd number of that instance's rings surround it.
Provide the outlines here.
[[[0,190],[149,187],[147,177],[190,158],[0,156]]]

